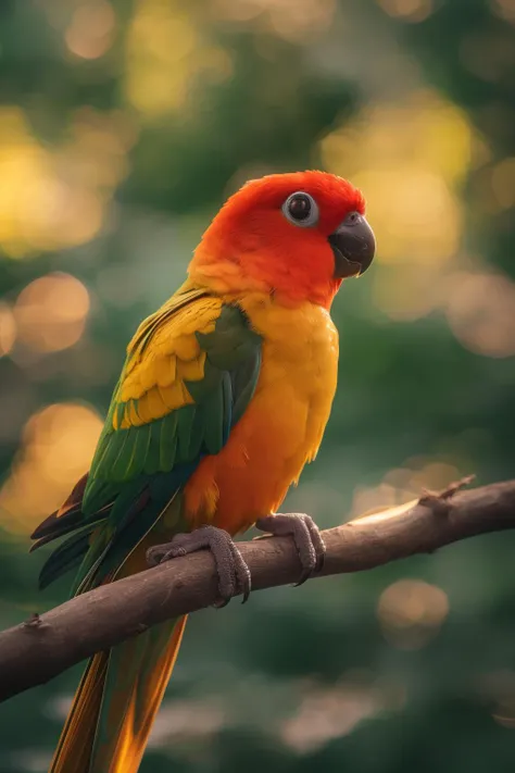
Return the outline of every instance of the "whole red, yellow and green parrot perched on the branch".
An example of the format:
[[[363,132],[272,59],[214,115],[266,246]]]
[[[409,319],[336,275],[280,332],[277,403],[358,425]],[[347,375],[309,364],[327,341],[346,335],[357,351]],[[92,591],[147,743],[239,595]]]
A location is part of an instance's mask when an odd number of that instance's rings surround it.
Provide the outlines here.
[[[76,571],[72,596],[210,550],[218,600],[251,590],[234,537],[289,536],[299,584],[321,570],[314,521],[279,513],[312,462],[337,388],[331,302],[376,245],[363,194],[328,172],[271,174],[230,196],[193,251],[185,283],[128,344],[89,472],[34,532],[65,537],[45,588]],[[136,773],[186,616],[88,662],[50,773]]]

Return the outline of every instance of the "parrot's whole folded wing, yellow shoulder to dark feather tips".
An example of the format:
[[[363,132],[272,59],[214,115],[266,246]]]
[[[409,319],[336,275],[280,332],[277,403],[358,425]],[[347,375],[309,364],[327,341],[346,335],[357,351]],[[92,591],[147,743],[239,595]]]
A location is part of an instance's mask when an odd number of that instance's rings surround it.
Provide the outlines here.
[[[260,366],[261,337],[241,309],[188,283],[140,325],[89,474],[33,535],[39,547],[72,533],[41,586],[81,564],[75,589],[85,590],[121,565],[202,457],[223,448]],[[173,511],[187,528],[177,502]]]

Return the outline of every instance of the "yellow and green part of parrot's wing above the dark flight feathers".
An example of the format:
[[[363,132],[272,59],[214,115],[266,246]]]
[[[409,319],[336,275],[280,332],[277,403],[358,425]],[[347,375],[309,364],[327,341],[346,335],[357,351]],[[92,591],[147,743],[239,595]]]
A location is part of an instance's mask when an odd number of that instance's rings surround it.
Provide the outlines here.
[[[235,398],[247,406],[255,387],[261,338],[237,307],[201,296],[174,314],[166,310],[161,325],[150,327],[129,346],[91,465],[86,512],[105,504],[113,490],[105,483],[169,473],[202,452],[217,453],[235,423]],[[242,370],[246,384],[235,396]]]

